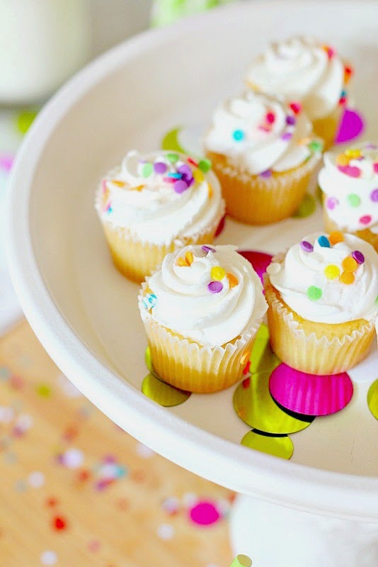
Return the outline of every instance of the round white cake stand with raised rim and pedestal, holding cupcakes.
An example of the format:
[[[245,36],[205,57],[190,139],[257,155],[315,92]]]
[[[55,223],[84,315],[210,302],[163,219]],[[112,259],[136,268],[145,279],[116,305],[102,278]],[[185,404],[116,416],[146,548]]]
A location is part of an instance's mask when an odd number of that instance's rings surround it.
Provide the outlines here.
[[[140,391],[146,346],[137,286],[108,257],[93,208],[101,174],[175,125],[204,130],[271,38],[313,33],[355,62],[356,99],[378,139],[378,4],[242,3],[145,33],[89,65],[28,133],[11,179],[8,256],[25,315],[52,359],[149,447],[240,496],[234,551],[256,567],[376,567],[378,423],[367,409],[377,357],[350,372],[352,402],[292,436],[291,461],[241,446],[233,388],[166,409]],[[319,229],[320,212],[266,228],[229,222],[220,242],[276,252]]]

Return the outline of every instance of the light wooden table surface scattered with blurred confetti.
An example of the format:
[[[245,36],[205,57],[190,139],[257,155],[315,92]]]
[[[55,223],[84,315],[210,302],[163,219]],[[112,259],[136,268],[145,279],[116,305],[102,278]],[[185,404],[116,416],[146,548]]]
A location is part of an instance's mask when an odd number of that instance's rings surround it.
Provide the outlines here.
[[[115,426],[27,322],[0,339],[0,478],[1,567],[231,563],[234,494]]]

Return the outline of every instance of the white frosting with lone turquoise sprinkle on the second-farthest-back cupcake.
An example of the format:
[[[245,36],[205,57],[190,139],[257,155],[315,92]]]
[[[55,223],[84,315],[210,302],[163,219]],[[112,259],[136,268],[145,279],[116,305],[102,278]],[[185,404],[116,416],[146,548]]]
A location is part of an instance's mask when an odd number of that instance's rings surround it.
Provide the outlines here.
[[[298,167],[323,147],[300,105],[253,91],[216,109],[204,144],[250,174],[266,177]]]

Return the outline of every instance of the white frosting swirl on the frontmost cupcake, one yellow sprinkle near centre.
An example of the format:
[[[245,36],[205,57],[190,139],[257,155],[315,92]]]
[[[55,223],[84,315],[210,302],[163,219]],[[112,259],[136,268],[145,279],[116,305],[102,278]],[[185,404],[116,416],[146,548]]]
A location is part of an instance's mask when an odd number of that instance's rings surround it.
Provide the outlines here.
[[[251,264],[233,246],[190,245],[164,258],[147,279],[140,299],[164,327],[206,347],[240,337],[260,320],[267,305]]]

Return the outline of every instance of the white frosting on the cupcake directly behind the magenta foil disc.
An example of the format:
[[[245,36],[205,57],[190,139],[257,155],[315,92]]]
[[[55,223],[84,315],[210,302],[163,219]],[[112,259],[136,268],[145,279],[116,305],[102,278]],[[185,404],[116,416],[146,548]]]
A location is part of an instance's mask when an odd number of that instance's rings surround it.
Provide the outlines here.
[[[378,254],[353,235],[316,233],[268,266],[282,300],[302,318],[343,323],[378,312]]]

